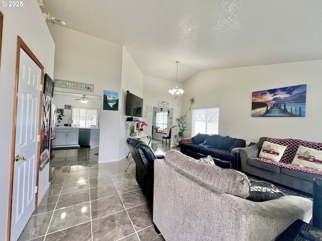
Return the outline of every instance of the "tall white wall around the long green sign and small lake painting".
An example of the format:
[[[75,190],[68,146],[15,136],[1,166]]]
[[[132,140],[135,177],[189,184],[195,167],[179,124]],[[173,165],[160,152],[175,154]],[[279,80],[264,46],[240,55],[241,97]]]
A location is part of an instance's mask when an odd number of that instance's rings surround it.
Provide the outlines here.
[[[57,91],[98,95],[101,103],[99,163],[119,160],[119,110],[103,110],[103,90],[121,93],[122,46],[57,25],[48,25],[56,44],[54,78],[94,84],[94,91]]]

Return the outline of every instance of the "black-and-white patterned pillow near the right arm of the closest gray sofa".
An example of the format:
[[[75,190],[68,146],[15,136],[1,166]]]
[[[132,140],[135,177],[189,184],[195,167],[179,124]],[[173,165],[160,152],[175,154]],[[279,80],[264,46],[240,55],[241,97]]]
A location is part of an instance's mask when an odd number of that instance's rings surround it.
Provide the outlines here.
[[[270,187],[251,186],[250,196],[246,199],[254,202],[264,202],[285,196],[285,193]]]

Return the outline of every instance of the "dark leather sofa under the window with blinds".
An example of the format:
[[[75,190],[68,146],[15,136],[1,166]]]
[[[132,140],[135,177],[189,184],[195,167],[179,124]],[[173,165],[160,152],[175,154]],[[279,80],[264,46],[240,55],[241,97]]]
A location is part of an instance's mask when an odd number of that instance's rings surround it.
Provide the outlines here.
[[[245,146],[243,139],[200,133],[179,143],[180,151],[187,156],[199,159],[210,155],[217,166],[232,169],[238,169],[238,149]]]

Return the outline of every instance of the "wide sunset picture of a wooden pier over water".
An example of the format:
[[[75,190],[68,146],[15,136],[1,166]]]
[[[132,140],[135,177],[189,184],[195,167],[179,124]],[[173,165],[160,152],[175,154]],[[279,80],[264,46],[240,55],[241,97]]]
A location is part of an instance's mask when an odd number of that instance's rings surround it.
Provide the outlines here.
[[[252,117],[305,117],[306,84],[252,93]]]

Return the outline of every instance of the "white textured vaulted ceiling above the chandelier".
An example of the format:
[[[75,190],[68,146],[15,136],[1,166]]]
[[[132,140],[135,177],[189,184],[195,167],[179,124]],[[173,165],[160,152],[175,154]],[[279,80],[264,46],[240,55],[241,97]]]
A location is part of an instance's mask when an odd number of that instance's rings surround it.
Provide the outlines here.
[[[123,45],[143,74],[322,59],[321,0],[43,0],[65,27]]]

